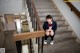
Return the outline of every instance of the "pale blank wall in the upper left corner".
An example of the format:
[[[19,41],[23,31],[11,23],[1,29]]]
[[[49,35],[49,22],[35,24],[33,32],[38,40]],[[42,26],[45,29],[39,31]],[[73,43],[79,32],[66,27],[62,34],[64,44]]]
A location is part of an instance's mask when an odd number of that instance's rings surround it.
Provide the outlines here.
[[[23,12],[24,0],[0,0],[0,14]]]

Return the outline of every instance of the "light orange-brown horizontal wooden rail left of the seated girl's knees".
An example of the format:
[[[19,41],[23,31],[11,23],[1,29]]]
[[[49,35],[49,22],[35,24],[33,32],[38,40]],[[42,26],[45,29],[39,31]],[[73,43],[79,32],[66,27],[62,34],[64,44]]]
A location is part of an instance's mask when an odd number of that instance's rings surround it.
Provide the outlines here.
[[[14,40],[25,40],[25,39],[31,39],[31,38],[37,38],[44,36],[44,31],[35,31],[35,32],[27,32],[27,33],[21,33],[21,34],[14,34]]]

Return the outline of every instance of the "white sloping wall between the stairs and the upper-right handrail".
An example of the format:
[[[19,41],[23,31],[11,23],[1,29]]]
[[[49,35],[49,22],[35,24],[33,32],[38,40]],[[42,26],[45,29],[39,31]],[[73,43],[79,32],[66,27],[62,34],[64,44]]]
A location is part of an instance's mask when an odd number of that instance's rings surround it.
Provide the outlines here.
[[[73,31],[80,39],[80,18],[76,16],[68,7],[68,5],[63,2],[63,0],[53,0],[60,12],[63,14],[69,25],[72,27]]]

